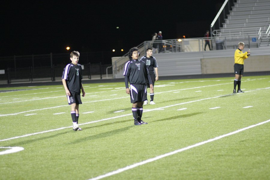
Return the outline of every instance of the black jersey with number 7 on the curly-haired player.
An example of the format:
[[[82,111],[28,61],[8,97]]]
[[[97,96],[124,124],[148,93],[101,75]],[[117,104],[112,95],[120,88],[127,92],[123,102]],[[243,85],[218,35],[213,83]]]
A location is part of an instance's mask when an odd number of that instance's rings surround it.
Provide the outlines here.
[[[148,74],[144,61],[132,59],[125,64],[123,75],[128,76],[129,84],[146,84]]]

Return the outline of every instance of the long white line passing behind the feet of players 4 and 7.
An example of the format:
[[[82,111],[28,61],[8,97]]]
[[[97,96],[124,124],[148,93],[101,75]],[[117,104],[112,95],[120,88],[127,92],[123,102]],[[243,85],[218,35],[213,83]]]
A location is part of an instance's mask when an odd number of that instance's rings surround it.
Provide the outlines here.
[[[268,87],[268,88],[261,88],[261,89],[255,89],[255,90],[251,90],[251,91],[258,91],[258,90],[269,89],[269,88],[270,87]],[[246,92],[251,92],[251,91],[246,91]],[[235,95],[235,94],[229,94],[229,95]],[[149,111],[164,110],[164,108],[167,108],[167,107],[173,107],[173,106],[178,106],[178,105],[182,105],[182,104],[193,103],[193,102],[197,102],[197,101],[202,101],[202,100],[207,100],[207,99],[213,99],[213,98],[219,98],[219,97],[224,97],[224,96],[229,96],[229,95],[222,95],[222,96],[216,96],[216,97],[212,97],[212,98],[205,98],[205,99],[199,99],[199,100],[195,100],[195,101],[189,101],[189,102],[180,103],[180,104],[173,104],[173,105],[170,105],[170,106],[160,107],[160,108],[156,108],[156,109],[152,109],[152,110],[144,110],[144,112],[146,113],[146,112],[149,112]],[[69,106],[69,105],[66,105],[66,106]],[[14,115],[16,115],[16,114],[14,114]],[[116,118],[121,118],[121,117],[125,117],[125,116],[130,116],[130,115],[132,115],[132,114],[126,114],[126,115],[122,115],[122,116],[115,116],[115,117],[112,117],[112,118],[107,118],[107,119],[101,119],[101,120],[97,120],[97,121],[86,122],[86,123],[83,123],[83,124],[80,124],[80,125],[87,125],[87,124],[91,124],[91,123],[95,123],[95,122],[101,122],[101,121],[106,121],[106,120],[110,120],[110,119],[116,119]],[[43,133],[57,131],[57,130],[66,129],[66,128],[72,128],[72,127],[73,126],[69,126],[69,127],[52,129],[52,130],[42,131],[42,132],[33,133],[33,134],[26,134],[26,135],[23,135],[23,136],[11,137],[11,138],[8,138],[8,139],[0,140],[0,142],[1,141],[12,140],[12,139],[17,139],[17,138],[21,138],[21,137],[32,136],[32,135],[36,135],[36,134],[43,134]]]

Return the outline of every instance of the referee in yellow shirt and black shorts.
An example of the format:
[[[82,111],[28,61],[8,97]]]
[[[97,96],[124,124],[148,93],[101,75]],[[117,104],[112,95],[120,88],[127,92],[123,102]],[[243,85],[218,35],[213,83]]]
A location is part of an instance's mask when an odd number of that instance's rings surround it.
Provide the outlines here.
[[[245,44],[243,42],[238,43],[238,49],[234,53],[234,73],[235,79],[233,82],[233,93],[236,93],[236,85],[238,85],[237,92],[244,92],[241,90],[241,78],[244,72],[244,59],[250,56],[250,50],[243,52]]]

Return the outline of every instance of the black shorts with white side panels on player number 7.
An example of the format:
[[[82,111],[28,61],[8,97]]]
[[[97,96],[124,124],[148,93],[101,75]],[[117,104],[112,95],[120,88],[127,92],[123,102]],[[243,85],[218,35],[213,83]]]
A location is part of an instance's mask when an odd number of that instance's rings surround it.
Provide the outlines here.
[[[147,100],[147,91],[145,84],[131,84],[130,85],[130,102],[142,102]]]

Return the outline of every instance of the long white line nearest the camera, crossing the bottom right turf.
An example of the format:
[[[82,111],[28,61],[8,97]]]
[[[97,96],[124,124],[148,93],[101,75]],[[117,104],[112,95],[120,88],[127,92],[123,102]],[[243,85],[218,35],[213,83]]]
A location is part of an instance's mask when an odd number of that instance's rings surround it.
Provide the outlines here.
[[[191,145],[191,146],[187,146],[187,147],[185,147],[185,148],[178,149],[178,150],[176,150],[176,151],[172,151],[172,152],[169,152],[169,153],[166,153],[166,154],[163,154],[163,155],[159,155],[159,156],[157,156],[157,157],[155,157],[155,158],[150,158],[150,159],[147,159],[147,160],[145,160],[145,161],[141,161],[141,162],[139,162],[139,163],[135,163],[135,164],[129,165],[129,166],[127,166],[127,167],[120,168],[120,169],[118,169],[118,170],[112,171],[112,172],[110,172],[110,173],[106,173],[106,174],[101,175],[101,176],[97,176],[97,177],[95,177],[95,178],[91,178],[91,179],[89,179],[89,180],[98,180],[98,179],[106,178],[106,177],[109,177],[109,176],[113,176],[113,175],[115,175],[115,174],[122,173],[122,172],[124,172],[124,171],[126,171],[126,170],[130,170],[130,169],[133,169],[133,168],[135,168],[135,167],[141,166],[141,165],[143,165],[143,164],[147,164],[147,163],[150,163],[150,162],[153,162],[153,161],[157,161],[157,160],[159,160],[159,159],[161,159],[161,158],[165,158],[165,157],[167,157],[167,156],[171,156],[171,155],[174,155],[174,154],[176,154],[176,153],[179,153],[179,152],[182,152],[182,151],[191,149],[191,148],[195,148],[195,147],[197,147],[197,146],[201,146],[201,145],[204,145],[204,144],[206,144],[206,143],[213,142],[213,141],[215,141],[215,140],[219,140],[219,139],[221,139],[221,138],[223,138],[223,137],[231,136],[231,135],[233,135],[233,134],[239,133],[239,132],[241,132],[241,131],[245,131],[245,130],[250,129],[250,128],[254,128],[254,127],[256,127],[256,126],[259,126],[259,125],[262,125],[262,124],[265,124],[265,123],[268,123],[268,122],[270,122],[270,119],[267,120],[267,121],[264,121],[264,122],[260,122],[260,123],[258,123],[258,124],[256,124],[256,125],[251,125],[251,126],[248,126],[248,127],[246,127],[246,128],[242,128],[242,129],[239,129],[239,130],[237,130],[237,131],[233,131],[233,132],[230,132],[230,133],[228,133],[228,134],[224,134],[224,135],[215,137],[215,138],[213,138],[213,139],[209,139],[209,140],[206,140],[206,141],[202,141],[202,142],[200,142],[200,143],[196,143],[196,144],[193,144],[193,145]]]

